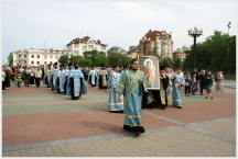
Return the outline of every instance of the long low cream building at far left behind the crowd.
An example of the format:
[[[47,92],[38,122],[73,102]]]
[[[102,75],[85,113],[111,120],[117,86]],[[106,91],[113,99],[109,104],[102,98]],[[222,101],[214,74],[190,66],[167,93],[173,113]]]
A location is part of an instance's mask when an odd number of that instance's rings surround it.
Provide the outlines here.
[[[22,49],[13,50],[13,65],[28,65],[28,66],[39,66],[48,65],[50,63],[55,63],[62,55],[71,56],[67,50],[53,50],[53,49]]]

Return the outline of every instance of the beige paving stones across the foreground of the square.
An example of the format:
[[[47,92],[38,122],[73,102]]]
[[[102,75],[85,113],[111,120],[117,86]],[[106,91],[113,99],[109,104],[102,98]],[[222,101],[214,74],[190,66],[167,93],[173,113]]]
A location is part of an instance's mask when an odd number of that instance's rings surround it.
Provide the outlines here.
[[[234,125],[235,118],[228,123]],[[174,126],[172,126],[174,127]],[[235,129],[230,129],[235,132]],[[235,140],[235,138],[234,138]],[[235,157],[236,144],[223,138],[196,132],[190,127],[145,133],[138,138],[131,136],[98,137],[95,139],[3,151],[3,157],[60,156],[60,157]]]

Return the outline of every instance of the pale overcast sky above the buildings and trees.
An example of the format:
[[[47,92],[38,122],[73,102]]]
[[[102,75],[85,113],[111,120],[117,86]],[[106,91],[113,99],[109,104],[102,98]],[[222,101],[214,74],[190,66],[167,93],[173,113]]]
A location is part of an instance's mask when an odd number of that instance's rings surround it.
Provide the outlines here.
[[[90,36],[126,50],[149,31],[172,32],[174,50],[191,46],[187,30],[197,26],[204,42],[214,30],[237,34],[236,2],[2,2],[2,61],[14,49],[64,49],[76,37]]]

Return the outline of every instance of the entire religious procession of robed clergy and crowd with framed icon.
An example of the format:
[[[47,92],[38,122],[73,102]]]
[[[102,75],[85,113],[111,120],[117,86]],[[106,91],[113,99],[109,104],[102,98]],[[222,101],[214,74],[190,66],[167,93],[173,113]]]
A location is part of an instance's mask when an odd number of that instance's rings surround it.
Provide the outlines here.
[[[132,58],[129,66],[113,68],[101,67],[79,68],[77,63],[67,66],[54,63],[37,67],[7,67],[2,66],[2,90],[11,86],[46,87],[55,93],[69,95],[72,100],[79,100],[87,93],[87,87],[108,91],[108,111],[123,113],[123,129],[134,133],[138,137],[144,133],[141,122],[143,109],[161,109],[172,106],[182,109],[182,94],[195,95],[195,92],[206,90],[205,98],[214,99],[212,86],[216,81],[216,90],[225,91],[224,76],[218,71],[216,76],[209,70],[194,69],[192,73],[181,68],[164,68],[159,65],[156,56],[138,56]],[[106,106],[106,105],[105,105]]]

